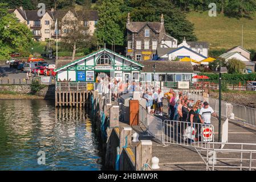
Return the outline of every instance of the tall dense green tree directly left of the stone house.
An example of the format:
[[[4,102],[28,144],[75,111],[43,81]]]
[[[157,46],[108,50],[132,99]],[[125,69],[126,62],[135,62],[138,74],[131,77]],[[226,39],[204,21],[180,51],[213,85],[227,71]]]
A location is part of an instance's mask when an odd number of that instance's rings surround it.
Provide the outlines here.
[[[125,26],[120,10],[123,4],[123,0],[101,0],[98,2],[99,21],[96,25],[96,36],[100,44],[103,45],[104,42],[111,45],[115,42],[115,45],[124,45]]]

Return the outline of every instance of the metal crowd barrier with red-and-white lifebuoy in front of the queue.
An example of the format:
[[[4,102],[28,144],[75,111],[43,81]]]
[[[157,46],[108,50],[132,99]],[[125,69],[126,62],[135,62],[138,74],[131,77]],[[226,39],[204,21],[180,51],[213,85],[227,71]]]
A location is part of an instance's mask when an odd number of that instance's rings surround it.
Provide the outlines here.
[[[208,142],[214,142],[214,126],[202,123],[183,121],[164,121],[164,144],[180,144],[182,146],[206,147]]]

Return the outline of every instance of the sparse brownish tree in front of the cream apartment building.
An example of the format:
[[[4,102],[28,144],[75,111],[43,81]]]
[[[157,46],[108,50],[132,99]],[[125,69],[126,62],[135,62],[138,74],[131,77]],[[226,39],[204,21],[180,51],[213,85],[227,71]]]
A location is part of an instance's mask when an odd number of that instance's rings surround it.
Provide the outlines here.
[[[72,11],[70,11],[72,12]],[[63,46],[72,49],[72,60],[78,49],[91,45],[92,36],[88,32],[88,27],[84,26],[85,11],[80,11],[78,16],[70,16],[62,20],[62,31],[64,36]]]

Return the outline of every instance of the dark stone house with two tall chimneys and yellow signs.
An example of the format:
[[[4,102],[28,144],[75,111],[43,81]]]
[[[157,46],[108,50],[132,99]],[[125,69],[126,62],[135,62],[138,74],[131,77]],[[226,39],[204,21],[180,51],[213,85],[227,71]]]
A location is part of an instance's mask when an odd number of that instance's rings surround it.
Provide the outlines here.
[[[167,35],[164,28],[164,16],[161,22],[131,22],[127,17],[126,56],[136,60],[152,60],[159,47],[177,47],[177,39]]]

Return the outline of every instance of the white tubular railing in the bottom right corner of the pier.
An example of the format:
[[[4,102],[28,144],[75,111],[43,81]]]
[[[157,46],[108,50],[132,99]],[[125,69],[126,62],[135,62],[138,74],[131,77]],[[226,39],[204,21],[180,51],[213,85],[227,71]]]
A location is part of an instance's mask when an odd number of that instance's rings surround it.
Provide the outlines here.
[[[223,146],[225,145],[225,148]],[[222,147],[221,147],[222,146]],[[197,150],[197,149],[196,149]],[[198,151],[206,164],[206,169],[237,168],[251,171],[256,169],[255,143],[207,143]],[[206,152],[206,153],[205,153]]]

